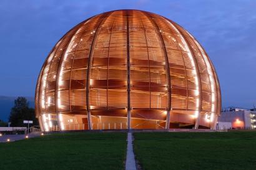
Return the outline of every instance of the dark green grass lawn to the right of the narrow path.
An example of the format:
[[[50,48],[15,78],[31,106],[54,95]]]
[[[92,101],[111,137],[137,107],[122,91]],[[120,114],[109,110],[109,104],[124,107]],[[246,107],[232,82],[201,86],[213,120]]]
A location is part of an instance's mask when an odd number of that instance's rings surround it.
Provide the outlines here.
[[[142,169],[256,169],[256,131],[134,133]]]

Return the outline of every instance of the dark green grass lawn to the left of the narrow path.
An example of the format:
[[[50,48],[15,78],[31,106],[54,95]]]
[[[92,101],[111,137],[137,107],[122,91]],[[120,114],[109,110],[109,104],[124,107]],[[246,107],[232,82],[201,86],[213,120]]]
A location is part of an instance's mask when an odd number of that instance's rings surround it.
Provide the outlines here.
[[[126,136],[127,133],[62,133],[0,143],[0,169],[124,169]]]

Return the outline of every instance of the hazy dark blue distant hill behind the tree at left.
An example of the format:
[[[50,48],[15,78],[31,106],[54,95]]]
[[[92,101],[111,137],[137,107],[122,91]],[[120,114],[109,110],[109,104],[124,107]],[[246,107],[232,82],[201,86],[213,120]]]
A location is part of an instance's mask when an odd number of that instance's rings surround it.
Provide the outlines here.
[[[14,100],[17,97],[6,97],[0,96],[0,120],[7,121],[12,106],[14,105]],[[29,102],[29,106],[34,108],[34,97],[26,97]]]

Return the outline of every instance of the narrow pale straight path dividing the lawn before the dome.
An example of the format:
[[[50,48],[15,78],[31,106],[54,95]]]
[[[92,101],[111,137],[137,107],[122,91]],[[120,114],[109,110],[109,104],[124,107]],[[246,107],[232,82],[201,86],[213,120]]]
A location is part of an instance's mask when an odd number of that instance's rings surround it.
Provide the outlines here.
[[[132,148],[132,133],[127,133],[127,154],[126,154],[126,170],[136,170],[134,151]]]

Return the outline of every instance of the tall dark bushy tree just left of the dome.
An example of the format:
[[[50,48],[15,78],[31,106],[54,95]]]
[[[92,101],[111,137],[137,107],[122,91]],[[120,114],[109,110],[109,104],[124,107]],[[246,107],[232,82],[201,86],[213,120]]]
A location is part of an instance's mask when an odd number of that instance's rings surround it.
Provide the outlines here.
[[[17,97],[14,100],[14,106],[11,108],[9,116],[11,126],[26,126],[23,120],[32,120],[32,125],[38,125],[39,123],[34,112],[34,108],[29,108],[29,102],[27,102],[25,97]]]

